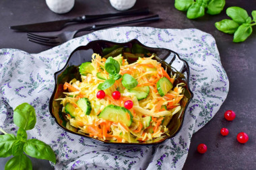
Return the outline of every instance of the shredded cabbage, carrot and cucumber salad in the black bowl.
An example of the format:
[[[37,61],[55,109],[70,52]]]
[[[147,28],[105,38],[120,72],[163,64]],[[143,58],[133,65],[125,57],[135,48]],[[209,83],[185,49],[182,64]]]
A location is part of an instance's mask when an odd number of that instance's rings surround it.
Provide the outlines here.
[[[182,110],[183,85],[173,87],[176,74],[168,75],[150,57],[129,64],[122,54],[79,66],[82,81],[65,82],[61,100],[68,128],[77,128],[110,142],[147,142],[168,136],[166,126]]]

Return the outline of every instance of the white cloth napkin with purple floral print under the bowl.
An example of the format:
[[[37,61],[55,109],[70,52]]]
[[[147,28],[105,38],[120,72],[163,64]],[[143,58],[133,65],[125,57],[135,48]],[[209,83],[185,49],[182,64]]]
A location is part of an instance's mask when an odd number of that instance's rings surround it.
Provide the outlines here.
[[[189,85],[194,97],[177,136],[159,146],[103,146],[61,130],[49,113],[53,73],[64,67],[77,46],[92,40],[127,42],[134,38],[146,46],[174,50],[189,63]],[[23,102],[33,105],[37,122],[35,128],[28,131],[28,138],[38,138],[51,145],[57,155],[55,169],[182,169],[193,133],[216,114],[229,87],[214,38],[196,29],[110,28],[39,54],[1,49],[0,77],[1,128],[15,134],[17,127],[13,124],[11,108]]]

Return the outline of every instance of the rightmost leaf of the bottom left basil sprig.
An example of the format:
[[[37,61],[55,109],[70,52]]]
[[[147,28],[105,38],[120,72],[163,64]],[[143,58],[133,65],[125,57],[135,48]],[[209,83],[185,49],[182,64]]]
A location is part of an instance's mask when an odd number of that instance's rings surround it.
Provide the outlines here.
[[[52,161],[53,163],[56,163],[56,157],[53,149],[51,148],[51,146],[42,142],[41,140],[37,140],[35,138],[27,140],[27,142],[24,144],[23,149],[26,155],[30,157],[34,157],[37,159],[46,159]]]

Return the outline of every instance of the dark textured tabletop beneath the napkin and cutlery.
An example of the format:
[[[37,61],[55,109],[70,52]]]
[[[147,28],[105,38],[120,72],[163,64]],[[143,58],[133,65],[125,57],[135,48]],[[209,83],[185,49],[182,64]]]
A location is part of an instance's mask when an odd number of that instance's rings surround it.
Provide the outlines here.
[[[239,6],[249,13],[256,10],[255,0],[227,0],[224,11],[220,15],[205,15],[199,19],[187,19],[185,13],[174,8],[174,0],[137,0],[135,7],[150,7],[154,14],[162,18],[159,22],[135,24],[133,26],[150,26],[155,28],[197,28],[212,34],[216,39],[222,65],[228,74],[230,90],[216,116],[201,130],[196,132],[189,147],[189,155],[183,169],[256,169],[256,102],[255,102],[255,66],[256,66],[256,26],[253,34],[243,43],[232,42],[232,35],[216,30],[214,23],[227,18],[226,8]],[[13,32],[9,26],[47,22],[56,19],[66,19],[84,14],[116,12],[108,0],[83,1],[76,0],[75,7],[66,14],[58,15],[49,10],[44,0],[1,0],[0,1],[0,48],[18,48],[29,53],[38,53],[49,49],[28,42],[26,34]],[[251,14],[250,14],[251,15]],[[138,17],[130,17],[138,18]],[[125,21],[113,19],[113,22]],[[98,23],[106,23],[102,21]],[[77,24],[64,30],[77,30],[89,24]],[[88,34],[83,32],[79,34]],[[234,110],[236,118],[232,122],[224,120],[224,112]],[[220,129],[230,130],[228,136],[220,135]],[[246,132],[249,141],[240,144],[236,141],[238,132]],[[208,151],[204,155],[197,153],[199,143],[207,144]],[[8,159],[0,159],[0,169]],[[49,161],[32,159],[34,169],[52,169]]]

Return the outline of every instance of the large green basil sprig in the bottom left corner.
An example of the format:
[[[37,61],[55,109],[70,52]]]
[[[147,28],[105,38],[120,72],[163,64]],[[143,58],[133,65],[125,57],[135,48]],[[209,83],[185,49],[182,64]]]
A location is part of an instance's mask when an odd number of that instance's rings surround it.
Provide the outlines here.
[[[17,136],[7,134],[0,128],[4,133],[0,135],[0,157],[14,156],[7,161],[5,169],[32,169],[32,162],[26,155],[56,163],[51,146],[35,138],[27,140],[26,130],[31,130],[36,124],[36,112],[30,104],[18,105],[13,112],[13,121],[19,127]]]

